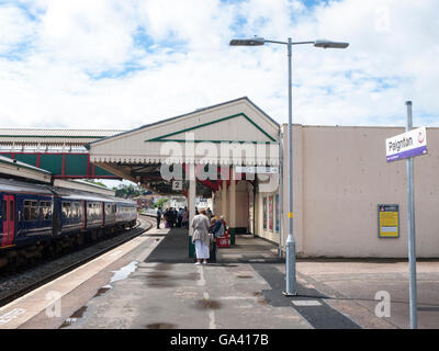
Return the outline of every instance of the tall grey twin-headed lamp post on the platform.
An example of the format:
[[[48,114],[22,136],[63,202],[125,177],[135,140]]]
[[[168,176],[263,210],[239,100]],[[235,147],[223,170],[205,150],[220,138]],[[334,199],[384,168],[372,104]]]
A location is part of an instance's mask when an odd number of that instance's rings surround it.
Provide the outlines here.
[[[314,41],[314,42],[292,42],[291,37],[288,42],[268,41],[263,37],[254,37],[248,39],[232,39],[230,46],[259,46],[266,43],[282,44],[288,47],[288,65],[289,65],[289,236],[285,242],[285,268],[286,268],[286,286],[283,294],[285,296],[297,295],[296,290],[296,271],[295,271],[295,240],[293,236],[293,107],[292,107],[292,45],[313,44],[315,47],[323,48],[346,48],[349,43],[331,42],[331,41]]]

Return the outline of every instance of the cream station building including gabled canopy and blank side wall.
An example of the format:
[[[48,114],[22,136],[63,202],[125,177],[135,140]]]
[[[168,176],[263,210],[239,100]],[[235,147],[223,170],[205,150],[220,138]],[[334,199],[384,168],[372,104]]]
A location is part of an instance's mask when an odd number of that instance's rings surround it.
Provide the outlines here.
[[[250,233],[284,251],[288,125],[248,98],[89,144],[91,162],[154,192],[212,197],[234,237]],[[407,257],[405,161],[386,162],[403,127],[293,125],[293,235],[299,257]],[[439,128],[415,159],[417,256],[439,257]],[[173,181],[182,188],[172,188]],[[191,230],[190,230],[191,235]],[[190,240],[190,237],[189,237]]]

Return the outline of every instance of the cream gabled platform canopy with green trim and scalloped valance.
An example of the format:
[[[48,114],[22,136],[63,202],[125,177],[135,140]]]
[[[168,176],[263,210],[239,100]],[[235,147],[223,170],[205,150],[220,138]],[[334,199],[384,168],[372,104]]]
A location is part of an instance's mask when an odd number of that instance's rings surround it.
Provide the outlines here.
[[[162,165],[279,166],[279,131],[245,97],[105,137],[88,148],[90,160],[113,174],[173,193]]]

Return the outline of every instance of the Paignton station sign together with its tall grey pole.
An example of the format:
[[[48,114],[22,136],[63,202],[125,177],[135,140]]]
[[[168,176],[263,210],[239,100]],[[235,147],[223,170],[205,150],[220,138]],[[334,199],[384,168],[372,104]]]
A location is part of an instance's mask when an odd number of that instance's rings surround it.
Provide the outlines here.
[[[426,127],[413,129],[412,101],[406,101],[407,124],[404,134],[385,140],[387,162],[407,159],[407,211],[408,211],[408,265],[409,265],[409,297],[410,328],[416,329],[417,288],[416,288],[416,235],[415,235],[415,196],[413,186],[413,158],[427,154]]]

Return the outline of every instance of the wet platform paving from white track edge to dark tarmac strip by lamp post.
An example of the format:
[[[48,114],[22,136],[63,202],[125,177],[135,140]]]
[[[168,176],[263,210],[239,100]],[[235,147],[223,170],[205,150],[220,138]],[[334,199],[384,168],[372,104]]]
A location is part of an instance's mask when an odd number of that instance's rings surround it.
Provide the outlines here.
[[[154,228],[1,307],[0,328],[360,328],[301,279],[300,296],[283,296],[277,254],[273,244],[238,235],[215,263],[195,265],[187,230]]]

